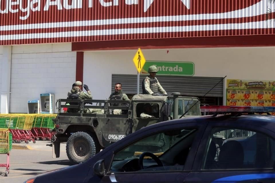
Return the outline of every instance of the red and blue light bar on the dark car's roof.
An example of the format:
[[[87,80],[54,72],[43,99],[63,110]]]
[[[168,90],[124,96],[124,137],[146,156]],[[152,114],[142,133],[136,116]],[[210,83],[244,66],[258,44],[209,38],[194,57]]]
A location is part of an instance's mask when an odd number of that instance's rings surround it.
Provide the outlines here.
[[[258,106],[201,106],[201,112],[211,113],[268,113],[275,112],[275,107]]]

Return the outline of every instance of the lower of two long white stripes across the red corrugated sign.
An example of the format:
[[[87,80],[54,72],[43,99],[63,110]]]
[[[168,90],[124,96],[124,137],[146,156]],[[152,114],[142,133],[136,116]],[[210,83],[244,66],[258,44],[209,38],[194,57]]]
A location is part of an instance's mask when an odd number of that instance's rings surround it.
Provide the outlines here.
[[[121,35],[121,34],[137,34],[137,33],[165,33],[165,32],[275,28],[274,21],[270,21],[270,22],[258,21],[255,23],[256,23],[255,25],[248,22],[248,23],[230,23],[230,24],[217,24],[217,25],[190,25],[190,26],[174,26],[174,27],[168,26],[168,27],[150,27],[150,28],[105,29],[105,30],[91,30],[91,31],[14,34],[14,35],[0,35],[0,40],[102,36],[102,35]]]

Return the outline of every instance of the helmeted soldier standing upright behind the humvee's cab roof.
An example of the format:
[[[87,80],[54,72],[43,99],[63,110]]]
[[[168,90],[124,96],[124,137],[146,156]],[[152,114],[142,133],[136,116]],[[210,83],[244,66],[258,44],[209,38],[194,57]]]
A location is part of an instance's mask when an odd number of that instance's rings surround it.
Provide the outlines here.
[[[149,76],[145,77],[142,81],[142,94],[154,95],[160,92],[161,94],[167,94],[162,88],[158,79],[155,77],[158,69],[156,66],[151,65],[148,69]]]

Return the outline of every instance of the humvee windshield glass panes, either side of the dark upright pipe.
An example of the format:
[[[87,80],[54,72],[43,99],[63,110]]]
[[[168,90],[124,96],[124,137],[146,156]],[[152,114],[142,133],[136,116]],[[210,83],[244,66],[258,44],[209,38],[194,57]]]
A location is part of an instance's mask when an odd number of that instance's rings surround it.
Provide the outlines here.
[[[171,103],[171,116],[173,116],[173,110],[174,110],[173,100],[168,99],[167,102]],[[197,104],[195,104],[195,103],[197,103]],[[195,106],[193,106],[194,104],[195,104]],[[178,100],[178,116],[181,116],[187,110],[189,110],[189,111],[184,116],[201,116],[200,104],[199,104],[197,98],[179,98],[179,100]]]

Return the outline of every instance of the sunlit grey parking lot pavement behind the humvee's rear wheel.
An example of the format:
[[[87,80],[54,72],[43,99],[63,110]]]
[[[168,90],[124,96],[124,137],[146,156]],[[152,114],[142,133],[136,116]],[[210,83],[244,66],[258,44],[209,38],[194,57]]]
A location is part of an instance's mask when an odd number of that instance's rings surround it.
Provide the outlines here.
[[[37,141],[36,144],[13,144],[10,151],[9,175],[5,177],[5,167],[0,167],[1,183],[23,183],[38,174],[70,166],[66,155],[66,144],[60,146],[60,158],[52,158],[52,147],[48,141]],[[0,164],[6,163],[7,154],[0,154]]]

